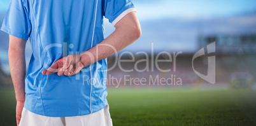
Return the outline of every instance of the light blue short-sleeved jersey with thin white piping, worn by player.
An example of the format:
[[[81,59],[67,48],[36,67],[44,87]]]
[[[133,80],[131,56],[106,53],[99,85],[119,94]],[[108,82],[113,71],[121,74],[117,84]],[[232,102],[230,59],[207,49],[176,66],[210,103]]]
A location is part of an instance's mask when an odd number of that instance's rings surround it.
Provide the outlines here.
[[[104,17],[115,25],[131,11],[135,9],[130,0],[11,0],[1,30],[30,39],[32,46],[24,107],[38,115],[58,117],[103,109],[108,104],[106,59],[74,76],[47,76],[41,71],[103,41]]]

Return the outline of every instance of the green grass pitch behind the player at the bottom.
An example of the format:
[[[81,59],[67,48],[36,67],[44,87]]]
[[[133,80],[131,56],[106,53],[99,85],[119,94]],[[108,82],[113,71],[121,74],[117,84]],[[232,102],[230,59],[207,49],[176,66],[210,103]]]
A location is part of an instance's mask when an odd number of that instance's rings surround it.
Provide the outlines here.
[[[0,125],[15,125],[15,95],[0,91]],[[113,125],[256,125],[255,90],[108,90]]]

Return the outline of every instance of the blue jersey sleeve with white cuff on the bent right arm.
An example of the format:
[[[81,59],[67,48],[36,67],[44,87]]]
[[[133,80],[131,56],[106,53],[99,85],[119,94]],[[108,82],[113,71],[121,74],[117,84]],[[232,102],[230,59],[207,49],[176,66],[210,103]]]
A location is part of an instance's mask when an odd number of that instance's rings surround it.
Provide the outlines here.
[[[105,0],[104,17],[108,18],[113,26],[131,11],[136,10],[130,0]]]

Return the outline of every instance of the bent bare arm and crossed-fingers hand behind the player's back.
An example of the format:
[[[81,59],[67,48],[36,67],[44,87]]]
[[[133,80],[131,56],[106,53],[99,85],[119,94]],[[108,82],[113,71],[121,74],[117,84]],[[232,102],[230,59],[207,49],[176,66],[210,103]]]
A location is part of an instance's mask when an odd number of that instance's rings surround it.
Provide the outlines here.
[[[42,74],[58,73],[59,76],[73,76],[83,67],[119,52],[141,36],[141,27],[134,11],[125,15],[115,27],[115,31],[98,45],[80,53],[80,55],[68,55],[57,60],[48,69],[43,70]]]

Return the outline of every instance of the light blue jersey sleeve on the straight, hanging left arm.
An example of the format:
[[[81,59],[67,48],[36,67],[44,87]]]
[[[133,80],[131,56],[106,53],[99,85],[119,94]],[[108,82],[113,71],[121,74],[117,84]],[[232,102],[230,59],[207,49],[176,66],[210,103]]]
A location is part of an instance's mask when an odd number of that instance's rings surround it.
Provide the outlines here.
[[[23,0],[11,0],[1,31],[27,40],[31,32],[31,22],[27,12]]]

